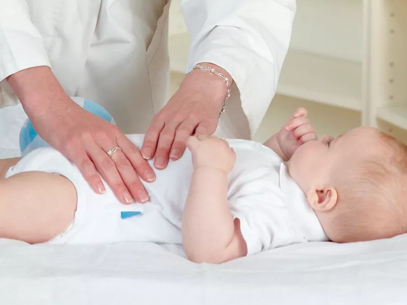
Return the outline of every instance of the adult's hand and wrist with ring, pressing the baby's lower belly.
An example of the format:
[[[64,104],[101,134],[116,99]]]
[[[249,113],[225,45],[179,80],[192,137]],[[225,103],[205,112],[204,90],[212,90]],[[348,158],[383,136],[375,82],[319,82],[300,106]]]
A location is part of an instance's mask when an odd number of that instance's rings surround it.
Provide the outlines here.
[[[79,168],[97,193],[105,187],[98,172],[123,202],[146,202],[139,176],[155,174],[138,148],[115,126],[82,109],[64,92],[48,67],[17,72],[8,78],[38,134]],[[120,147],[111,157],[107,151]]]

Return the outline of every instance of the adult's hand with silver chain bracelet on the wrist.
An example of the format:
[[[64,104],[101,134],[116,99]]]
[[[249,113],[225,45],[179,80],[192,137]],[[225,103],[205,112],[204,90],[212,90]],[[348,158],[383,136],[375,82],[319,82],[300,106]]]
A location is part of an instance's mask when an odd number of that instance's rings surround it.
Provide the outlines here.
[[[213,68],[229,79],[222,68]],[[219,112],[227,94],[224,80],[208,71],[194,70],[184,78],[178,91],[156,114],[141,147],[144,159],[154,158],[154,166],[164,169],[169,159],[182,157],[186,141],[191,135],[212,135],[218,126]]]

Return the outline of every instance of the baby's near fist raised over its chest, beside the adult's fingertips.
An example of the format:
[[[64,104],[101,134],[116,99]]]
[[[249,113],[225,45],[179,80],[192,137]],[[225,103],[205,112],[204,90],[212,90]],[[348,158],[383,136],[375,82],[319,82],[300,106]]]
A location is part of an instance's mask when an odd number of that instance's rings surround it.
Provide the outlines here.
[[[212,167],[229,173],[236,161],[236,154],[229,144],[215,136],[189,137],[187,147],[192,153],[194,169]]]

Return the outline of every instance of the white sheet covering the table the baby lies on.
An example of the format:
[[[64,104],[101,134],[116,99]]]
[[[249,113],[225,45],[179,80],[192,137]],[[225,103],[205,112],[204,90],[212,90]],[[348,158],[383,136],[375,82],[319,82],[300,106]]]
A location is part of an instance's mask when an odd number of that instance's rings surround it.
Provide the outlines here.
[[[18,156],[10,135],[23,121],[0,128],[0,159]],[[222,265],[191,263],[173,246],[0,239],[0,304],[406,304],[406,296],[407,235],[293,245]]]

